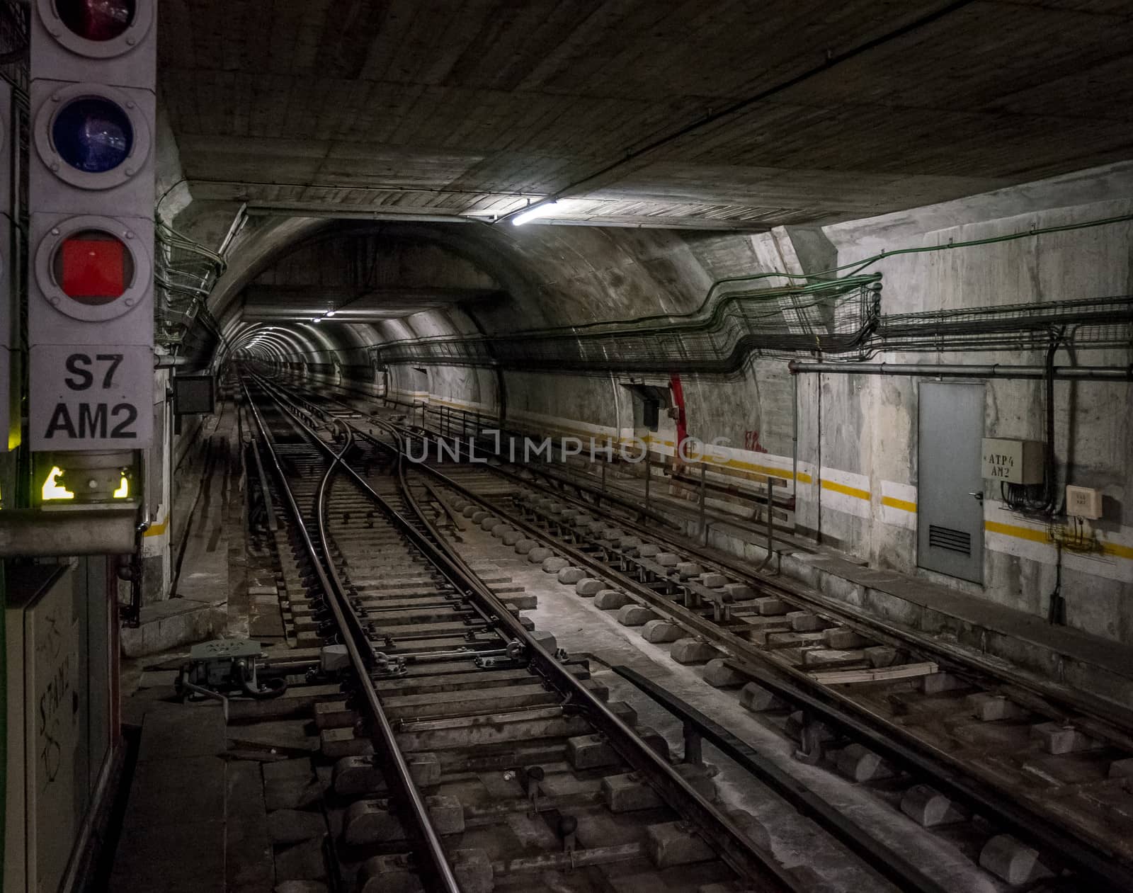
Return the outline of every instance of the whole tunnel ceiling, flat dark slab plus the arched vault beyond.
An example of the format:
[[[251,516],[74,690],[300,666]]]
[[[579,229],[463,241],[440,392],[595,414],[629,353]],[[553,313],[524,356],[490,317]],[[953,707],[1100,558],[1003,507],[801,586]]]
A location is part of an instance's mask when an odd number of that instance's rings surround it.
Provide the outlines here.
[[[229,346],[270,345],[275,324],[280,349],[323,352],[684,312],[714,278],[770,269],[753,232],[1133,155],[1119,0],[165,0],[160,15],[159,211],[212,247],[245,220],[208,303]],[[547,196],[563,197],[548,221],[588,226],[493,222]],[[343,256],[314,246],[364,230],[416,262],[325,279]],[[342,320],[312,323],[329,309]]]

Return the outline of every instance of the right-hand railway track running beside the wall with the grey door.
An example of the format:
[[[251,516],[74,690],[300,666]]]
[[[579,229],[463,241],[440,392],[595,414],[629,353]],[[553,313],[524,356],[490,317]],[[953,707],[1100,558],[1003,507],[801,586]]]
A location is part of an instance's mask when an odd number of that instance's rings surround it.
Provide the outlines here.
[[[390,457],[424,434],[361,423],[341,424]],[[485,469],[509,486],[485,488]],[[705,664],[710,683],[739,688],[743,706],[798,741],[803,762],[880,783],[889,797],[903,785],[906,815],[966,837],[965,849],[1002,879],[1133,890],[1133,740],[1059,691],[782,587],[768,594],[734,562],[519,469],[433,461],[408,475],[431,478],[436,503],[647,640],[674,643],[673,658]],[[1028,862],[1028,845],[1041,862]]]

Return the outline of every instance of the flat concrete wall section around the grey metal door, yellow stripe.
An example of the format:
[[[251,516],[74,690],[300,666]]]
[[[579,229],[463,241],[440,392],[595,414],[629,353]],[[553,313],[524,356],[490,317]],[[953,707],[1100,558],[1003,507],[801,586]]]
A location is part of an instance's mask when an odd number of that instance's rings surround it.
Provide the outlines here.
[[[1010,210],[1010,206],[1004,210]],[[1133,212],[1133,202],[1090,203],[1006,214],[926,230],[912,212],[886,231],[884,222],[829,228],[840,263],[876,252],[987,239],[1032,228],[1058,227]],[[879,233],[884,237],[879,240]],[[886,258],[886,313],[983,305],[1031,304],[1124,295],[1131,291],[1133,224],[1118,223]],[[1042,351],[892,352],[875,362],[1003,363],[1042,365]],[[1127,365],[1124,350],[1060,351],[1058,365]],[[1045,440],[1045,382],[988,380],[985,436]],[[917,502],[919,380],[866,375],[807,375],[800,381],[801,458],[863,493],[807,485],[807,526],[824,539],[863,558],[945,582],[1010,607],[1045,615],[1056,586],[1057,548],[1041,520],[1010,511],[998,487],[985,484],[983,585],[917,567],[917,517],[893,503]],[[1097,487],[1105,517],[1093,524],[1104,551],[1063,555],[1062,595],[1067,623],[1121,641],[1133,641],[1133,390],[1127,383],[1055,384],[1055,454],[1058,494],[1066,483]],[[820,433],[819,433],[820,426]],[[819,492],[821,494],[819,499]],[[895,495],[886,504],[886,495]],[[1059,503],[1062,500],[1059,499]]]

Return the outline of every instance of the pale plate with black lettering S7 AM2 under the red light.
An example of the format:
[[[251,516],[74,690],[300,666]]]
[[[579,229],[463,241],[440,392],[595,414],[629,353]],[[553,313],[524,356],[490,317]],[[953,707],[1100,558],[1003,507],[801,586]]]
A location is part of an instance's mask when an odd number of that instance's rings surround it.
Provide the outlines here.
[[[137,450],[153,437],[153,350],[32,348],[33,450]]]

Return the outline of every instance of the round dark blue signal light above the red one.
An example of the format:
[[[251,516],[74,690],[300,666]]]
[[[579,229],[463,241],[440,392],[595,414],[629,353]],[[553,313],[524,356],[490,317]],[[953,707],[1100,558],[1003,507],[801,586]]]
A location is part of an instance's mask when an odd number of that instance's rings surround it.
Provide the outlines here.
[[[51,121],[51,142],[59,158],[85,173],[105,173],[134,148],[134,127],[126,111],[107,96],[68,102]]]

